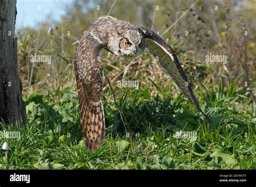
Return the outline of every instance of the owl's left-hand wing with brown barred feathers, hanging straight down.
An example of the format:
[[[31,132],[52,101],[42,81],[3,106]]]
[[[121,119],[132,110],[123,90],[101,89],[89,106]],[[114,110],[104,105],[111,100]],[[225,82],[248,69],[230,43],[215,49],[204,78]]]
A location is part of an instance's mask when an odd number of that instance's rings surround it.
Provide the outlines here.
[[[99,51],[103,47],[90,33],[85,33],[78,41],[74,59],[85,146],[93,153],[105,138],[103,88],[99,72]]]

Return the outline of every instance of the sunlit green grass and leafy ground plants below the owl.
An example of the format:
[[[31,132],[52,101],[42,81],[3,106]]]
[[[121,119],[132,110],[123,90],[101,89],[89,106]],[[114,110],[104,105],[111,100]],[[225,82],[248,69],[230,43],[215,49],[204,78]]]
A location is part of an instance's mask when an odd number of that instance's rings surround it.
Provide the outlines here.
[[[106,91],[106,139],[94,154],[84,146],[76,94],[70,89],[45,96],[32,92],[25,97],[29,125],[2,125],[2,131],[21,132],[21,139],[0,139],[11,149],[0,157],[0,169],[255,169],[249,93],[236,81],[226,87],[223,81],[217,91],[204,87],[197,93],[213,125],[181,95],[152,97],[145,86],[115,89],[129,137]],[[196,139],[179,138],[180,131],[194,132]]]

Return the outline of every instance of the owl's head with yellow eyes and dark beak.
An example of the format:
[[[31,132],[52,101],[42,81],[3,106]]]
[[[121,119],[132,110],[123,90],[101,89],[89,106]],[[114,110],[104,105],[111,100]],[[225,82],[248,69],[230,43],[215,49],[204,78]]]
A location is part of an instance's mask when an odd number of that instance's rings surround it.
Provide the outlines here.
[[[117,56],[136,57],[145,49],[144,36],[139,30],[123,30],[110,38],[107,48]]]

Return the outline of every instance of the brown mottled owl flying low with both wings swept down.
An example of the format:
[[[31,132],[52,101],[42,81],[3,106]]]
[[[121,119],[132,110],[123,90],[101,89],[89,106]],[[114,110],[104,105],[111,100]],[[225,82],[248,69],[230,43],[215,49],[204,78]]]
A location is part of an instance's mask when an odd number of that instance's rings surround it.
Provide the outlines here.
[[[99,17],[77,41],[74,59],[80,117],[82,118],[85,146],[91,151],[102,145],[105,138],[105,120],[102,105],[103,86],[100,76],[101,49],[122,57],[136,57],[149,49],[185,97],[211,122],[201,110],[187,77],[173,49],[148,28],[138,27],[111,16]]]

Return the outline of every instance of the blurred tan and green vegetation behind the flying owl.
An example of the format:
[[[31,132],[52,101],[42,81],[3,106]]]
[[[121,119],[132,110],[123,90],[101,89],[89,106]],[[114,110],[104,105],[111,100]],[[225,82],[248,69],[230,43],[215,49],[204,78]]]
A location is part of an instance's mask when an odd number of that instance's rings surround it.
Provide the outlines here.
[[[112,5],[111,16],[162,34],[192,4],[171,0],[73,1],[60,21],[51,21],[49,15],[49,20],[36,28],[19,29],[18,64],[23,93],[38,88],[44,91],[45,86],[51,91],[68,87],[76,90],[72,65],[76,45],[71,44],[99,16],[106,15]],[[199,1],[163,36],[177,51],[194,89],[199,89],[199,82],[211,87],[223,78],[225,82],[232,81],[240,74],[238,84],[242,90],[255,88],[255,10],[253,1]],[[35,53],[51,55],[52,63],[31,63],[29,57]],[[228,63],[206,64],[205,56],[210,53],[227,55]],[[102,52],[101,56],[105,73],[114,85],[121,78],[130,76],[139,77],[140,85],[147,84],[152,91],[156,88],[147,77],[158,85],[167,86],[172,82],[156,62],[143,61],[147,54],[130,60],[119,59],[107,52]],[[255,91],[250,91],[250,96],[255,100]]]

